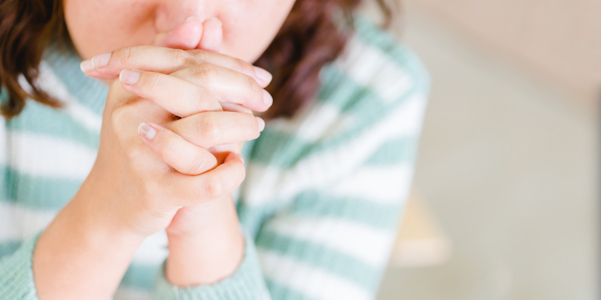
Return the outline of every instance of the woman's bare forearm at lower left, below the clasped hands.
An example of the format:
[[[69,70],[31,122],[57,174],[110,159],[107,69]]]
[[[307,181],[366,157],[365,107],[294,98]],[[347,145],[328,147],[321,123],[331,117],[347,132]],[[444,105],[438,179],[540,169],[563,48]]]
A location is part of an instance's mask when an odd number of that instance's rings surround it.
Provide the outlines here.
[[[82,186],[38,239],[32,268],[41,300],[111,298],[141,244],[104,220],[93,196]]]

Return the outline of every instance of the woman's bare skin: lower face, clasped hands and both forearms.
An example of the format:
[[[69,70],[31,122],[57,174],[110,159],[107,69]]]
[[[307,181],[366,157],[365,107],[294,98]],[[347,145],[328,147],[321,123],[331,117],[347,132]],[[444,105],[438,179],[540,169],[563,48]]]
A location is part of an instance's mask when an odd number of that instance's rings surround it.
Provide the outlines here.
[[[38,298],[108,299],[144,238],[163,229],[172,284],[236,270],[239,152],[264,128],[253,113],[272,103],[270,74],[249,62],[293,2],[64,1],[82,71],[110,88],[96,163],[36,245]]]

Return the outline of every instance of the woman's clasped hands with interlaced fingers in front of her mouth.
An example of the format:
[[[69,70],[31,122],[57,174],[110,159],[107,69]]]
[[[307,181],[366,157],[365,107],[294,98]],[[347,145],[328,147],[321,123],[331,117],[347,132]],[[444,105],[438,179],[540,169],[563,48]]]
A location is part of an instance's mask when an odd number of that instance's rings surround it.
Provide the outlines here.
[[[82,62],[87,76],[112,80],[84,184],[102,190],[108,203],[98,209],[119,228],[142,236],[188,230],[182,220],[169,226],[178,210],[230,194],[245,178],[240,151],[265,126],[252,111],[271,106],[271,75],[219,54],[221,40],[219,20],[191,18],[154,46]]]

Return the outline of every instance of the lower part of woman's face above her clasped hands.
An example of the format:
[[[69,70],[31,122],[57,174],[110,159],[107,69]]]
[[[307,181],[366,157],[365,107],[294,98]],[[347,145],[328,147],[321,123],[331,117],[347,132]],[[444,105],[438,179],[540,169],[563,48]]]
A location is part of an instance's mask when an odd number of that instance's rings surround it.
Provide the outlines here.
[[[221,53],[254,62],[273,40],[294,0],[65,0],[65,20],[83,58],[152,44],[195,16],[223,22]]]

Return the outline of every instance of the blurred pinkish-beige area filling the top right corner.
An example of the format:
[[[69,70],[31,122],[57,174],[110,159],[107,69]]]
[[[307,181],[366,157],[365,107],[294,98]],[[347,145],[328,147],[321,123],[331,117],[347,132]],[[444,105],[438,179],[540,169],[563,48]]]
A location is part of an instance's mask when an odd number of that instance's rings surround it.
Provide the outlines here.
[[[599,0],[401,1],[566,89],[584,104],[601,97]]]

